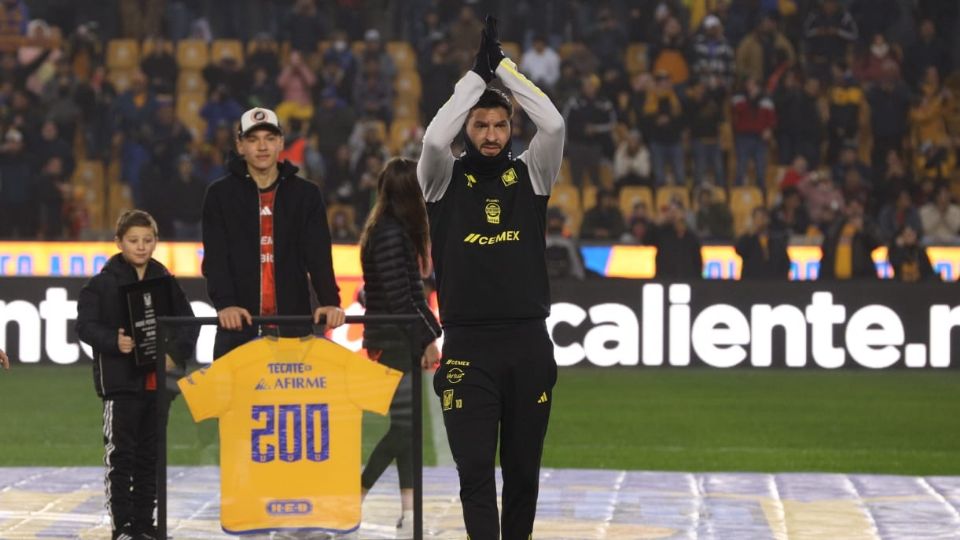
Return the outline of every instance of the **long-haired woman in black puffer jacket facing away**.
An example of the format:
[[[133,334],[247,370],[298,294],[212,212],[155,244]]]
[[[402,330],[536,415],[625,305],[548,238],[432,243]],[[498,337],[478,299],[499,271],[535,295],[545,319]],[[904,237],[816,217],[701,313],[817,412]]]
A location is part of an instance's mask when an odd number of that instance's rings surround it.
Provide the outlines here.
[[[377,443],[363,470],[361,484],[366,494],[391,461],[396,459],[400,477],[403,515],[397,523],[397,538],[410,538],[413,531],[413,400],[410,373],[415,362],[424,369],[440,358],[436,339],[440,324],[427,305],[422,278],[430,273],[427,211],[417,183],[417,164],[394,158],[377,180],[377,202],[360,236],[360,260],[366,312],[369,315],[419,314],[411,330],[396,325],[364,327],[363,346],[370,357],[405,375],[390,404],[390,429]]]

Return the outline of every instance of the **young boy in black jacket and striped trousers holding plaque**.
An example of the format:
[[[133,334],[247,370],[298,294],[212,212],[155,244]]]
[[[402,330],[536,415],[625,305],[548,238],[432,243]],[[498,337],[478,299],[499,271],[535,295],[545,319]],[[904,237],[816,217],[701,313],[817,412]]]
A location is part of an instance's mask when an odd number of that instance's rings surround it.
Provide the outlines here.
[[[113,538],[156,538],[157,373],[134,361],[133,337],[123,329],[121,287],[169,276],[172,314],[193,316],[193,310],[176,279],[152,258],[157,224],[150,214],[125,212],[117,221],[116,234],[120,253],[80,291],[76,329],[80,339],[93,347],[94,385],[103,399],[104,484]],[[179,333],[168,348],[174,355],[167,355],[168,371],[176,366],[174,358],[180,364],[186,361],[196,335],[196,330]]]

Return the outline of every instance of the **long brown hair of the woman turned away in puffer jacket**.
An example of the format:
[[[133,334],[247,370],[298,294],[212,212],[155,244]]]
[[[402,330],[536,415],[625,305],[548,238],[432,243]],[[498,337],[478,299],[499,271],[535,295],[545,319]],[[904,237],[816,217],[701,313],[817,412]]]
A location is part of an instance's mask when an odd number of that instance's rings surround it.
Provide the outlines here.
[[[413,242],[417,262],[426,268],[429,259],[430,225],[427,222],[427,207],[417,182],[417,163],[406,158],[393,158],[384,165],[377,178],[377,202],[360,234],[360,250],[367,247],[370,234],[383,216],[391,216],[400,222]]]

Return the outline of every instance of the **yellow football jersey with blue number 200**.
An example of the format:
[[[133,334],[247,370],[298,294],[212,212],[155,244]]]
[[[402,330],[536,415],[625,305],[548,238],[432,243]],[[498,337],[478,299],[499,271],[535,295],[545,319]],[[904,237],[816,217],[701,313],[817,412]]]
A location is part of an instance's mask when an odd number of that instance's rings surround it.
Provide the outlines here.
[[[220,420],[228,533],[360,525],[363,411],[386,414],[401,372],[322,338],[264,338],[178,385],[195,421]]]

